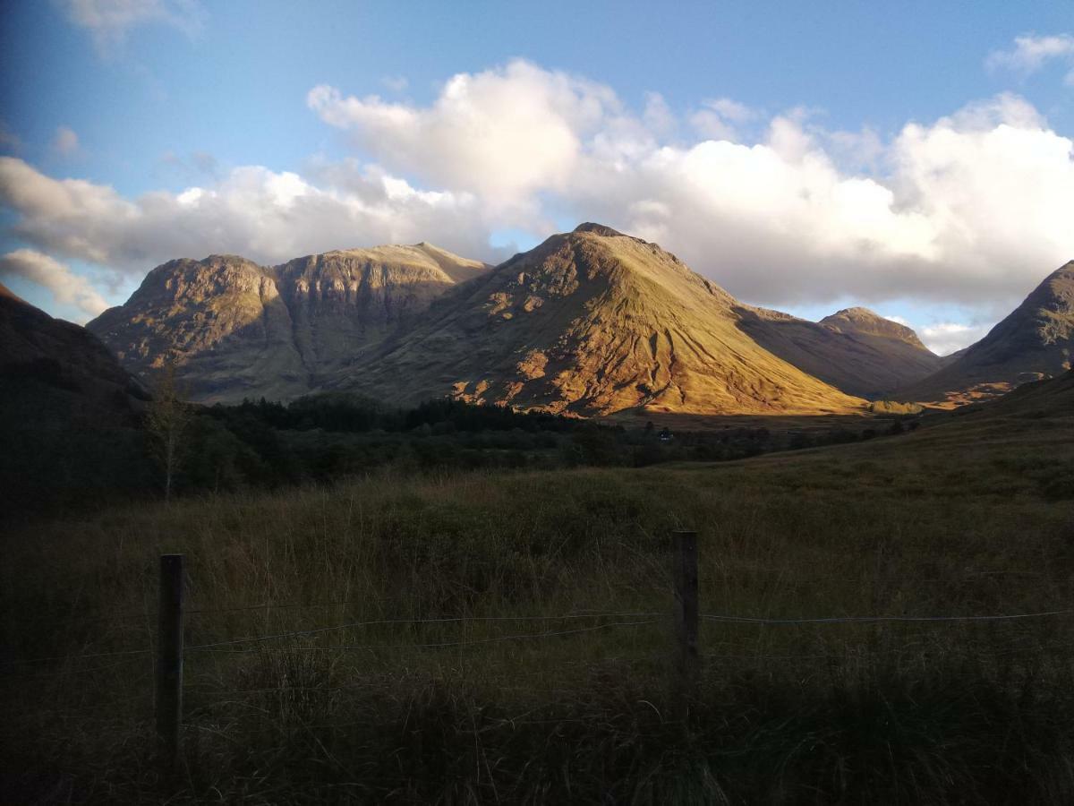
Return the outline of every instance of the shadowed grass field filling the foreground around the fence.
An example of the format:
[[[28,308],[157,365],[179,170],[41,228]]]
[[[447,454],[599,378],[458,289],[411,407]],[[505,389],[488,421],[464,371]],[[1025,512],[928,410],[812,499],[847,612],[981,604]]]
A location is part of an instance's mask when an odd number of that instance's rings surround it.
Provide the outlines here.
[[[1069,803],[1074,616],[705,621],[684,714],[665,615],[677,528],[699,532],[706,614],[1074,608],[1066,408],[715,465],[381,474],[27,524],[0,557],[4,800]],[[184,764],[161,779],[149,650],[173,551],[203,611]],[[317,606],[227,609],[262,604]],[[366,621],[395,623],[192,649]]]

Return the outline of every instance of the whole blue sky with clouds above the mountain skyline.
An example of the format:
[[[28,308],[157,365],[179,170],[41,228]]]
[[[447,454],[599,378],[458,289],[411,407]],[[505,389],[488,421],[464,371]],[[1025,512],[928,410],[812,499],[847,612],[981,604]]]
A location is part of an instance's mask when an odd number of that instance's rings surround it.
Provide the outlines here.
[[[0,282],[599,221],[940,354],[1074,259],[1074,4],[8,0]]]

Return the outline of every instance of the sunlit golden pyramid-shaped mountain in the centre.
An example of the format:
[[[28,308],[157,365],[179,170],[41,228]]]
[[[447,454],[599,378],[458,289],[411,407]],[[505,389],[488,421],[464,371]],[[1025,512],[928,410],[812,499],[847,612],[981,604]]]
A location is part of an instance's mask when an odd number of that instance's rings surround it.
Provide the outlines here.
[[[737,307],[655,244],[582,225],[445,294],[331,386],[578,414],[860,407],[752,341]]]

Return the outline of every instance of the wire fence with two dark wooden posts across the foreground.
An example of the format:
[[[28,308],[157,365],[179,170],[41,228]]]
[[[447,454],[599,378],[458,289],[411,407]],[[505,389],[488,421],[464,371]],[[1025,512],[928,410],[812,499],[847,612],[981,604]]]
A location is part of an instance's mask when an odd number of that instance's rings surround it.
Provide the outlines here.
[[[916,624],[928,634],[932,633],[931,628],[937,625],[958,625],[958,624],[999,624],[999,623],[1021,623],[1030,621],[1047,622],[1063,617],[1074,616],[1072,608],[1055,608],[1048,610],[1032,610],[1020,613],[966,613],[946,615],[913,615],[913,614],[875,614],[875,615],[827,615],[827,616],[779,616],[779,615],[740,615],[732,613],[702,613],[698,606],[698,580],[697,580],[697,546],[696,534],[676,533],[672,541],[672,552],[674,555],[672,575],[671,607],[665,610],[643,610],[633,609],[593,609],[574,610],[557,614],[531,614],[531,615],[503,615],[503,616],[433,616],[433,617],[396,617],[396,618],[366,618],[354,620],[339,620],[339,623],[307,627],[296,630],[281,630],[257,632],[255,634],[240,635],[237,637],[222,637],[215,641],[201,641],[184,645],[184,636],[187,632],[199,633],[205,629],[205,617],[218,616],[215,629],[226,629],[229,625],[240,623],[233,619],[226,618],[230,614],[243,613],[264,613],[273,611],[296,611],[313,610],[317,608],[375,608],[382,607],[382,602],[373,602],[368,598],[349,599],[343,598],[330,601],[306,601],[306,602],[263,602],[258,604],[241,604],[222,607],[183,607],[183,591],[189,585],[189,579],[183,575],[183,558],[179,556],[164,556],[161,558],[161,599],[160,611],[158,613],[158,629],[151,630],[149,627],[150,616],[148,611],[139,614],[145,622],[145,645],[142,647],[121,648],[108,651],[92,651],[89,644],[86,649],[72,654],[54,654],[40,658],[16,658],[0,661],[0,682],[9,681],[15,686],[27,685],[28,680],[40,680],[42,686],[52,686],[52,690],[60,692],[68,690],[71,699],[76,704],[85,702],[86,692],[92,691],[91,686],[69,686],[68,680],[72,677],[87,677],[91,675],[107,676],[113,675],[114,679],[122,679],[127,688],[117,688],[117,692],[124,694],[118,700],[107,697],[100,702],[90,703],[87,707],[69,710],[70,714],[97,714],[106,710],[108,702],[120,705],[124,702],[137,702],[147,704],[150,700],[156,702],[156,719],[158,734],[165,743],[173,744],[179,742],[179,726],[182,724],[195,724],[189,721],[191,716],[205,714],[209,710],[223,707],[253,708],[258,707],[248,697],[262,694],[280,693],[291,695],[325,696],[339,691],[354,690],[369,682],[368,675],[360,675],[359,679],[339,680],[338,674],[332,672],[322,680],[314,681],[314,685],[305,685],[309,680],[292,676],[290,673],[272,676],[272,667],[268,667],[270,676],[267,681],[278,685],[253,685],[237,688],[228,688],[226,680],[228,677],[217,678],[204,682],[192,682],[183,679],[184,658],[213,658],[220,656],[257,657],[259,654],[292,654],[295,657],[313,658],[313,653],[343,654],[351,653],[362,658],[359,663],[393,663],[395,656],[393,652],[420,652],[420,651],[442,651],[460,650],[461,652],[480,650],[494,645],[510,645],[520,643],[532,643],[540,648],[539,652],[546,653],[549,642],[557,639],[569,641],[579,636],[596,636],[603,633],[619,632],[626,630],[639,630],[656,624],[670,627],[670,633],[674,636],[672,649],[665,651],[662,656],[649,657],[653,645],[647,643],[648,638],[642,637],[640,647],[637,637],[632,638],[630,650],[638,657],[628,660],[632,663],[661,664],[663,667],[673,670],[673,678],[680,691],[688,691],[695,685],[699,676],[702,662],[713,665],[714,668],[723,670],[726,664],[778,664],[778,663],[810,663],[814,661],[829,663],[860,663],[876,658],[890,658],[896,662],[927,663],[930,658],[948,650],[939,639],[917,641],[915,636],[906,635],[905,630],[884,633],[889,637],[883,641],[870,639],[863,643],[852,643],[846,638],[840,638],[840,633],[836,633],[834,641],[822,637],[819,633],[807,634],[803,641],[782,642],[780,638],[768,641],[764,631],[767,628],[784,627],[812,627],[829,628],[834,625],[885,625],[885,624]],[[725,571],[725,570],[724,570]],[[781,572],[782,573],[782,572]],[[827,577],[836,578],[836,577]],[[968,577],[967,577],[968,578]],[[979,578],[979,577],[978,577]],[[197,617],[186,623],[187,617]],[[301,616],[303,620],[308,620],[307,616]],[[323,615],[318,617],[323,620]],[[267,623],[267,619],[266,622]],[[706,645],[706,651],[700,651],[702,642],[700,641],[700,625],[708,624],[709,632],[713,629],[722,629],[723,638],[741,637],[745,630],[760,630],[757,639],[751,645],[741,641],[710,641]],[[516,627],[527,625],[527,627]],[[537,625],[540,625],[539,628]],[[741,628],[741,629],[738,629]],[[467,634],[469,631],[469,634]],[[1056,642],[1054,631],[1050,628],[1041,630],[1028,630],[1019,628],[1020,634],[1011,636],[1008,634],[991,634],[988,642],[974,642],[962,639],[958,651],[964,654],[973,654],[979,658],[1003,658],[1005,656],[1016,656],[1019,653],[1045,653],[1069,651],[1074,648],[1074,643]],[[921,635],[926,632],[918,631]],[[461,633],[461,634],[460,634]],[[363,635],[364,641],[355,638]],[[637,635],[637,633],[636,633]],[[780,631],[780,635],[786,636],[785,631]],[[875,638],[876,633],[872,634]],[[708,635],[713,638],[711,634]],[[1014,641],[1001,642],[1000,638]],[[1044,638],[1049,638],[1045,641]],[[895,646],[891,646],[891,644]],[[101,646],[99,643],[98,646]],[[574,646],[563,645],[568,649]],[[625,644],[620,644],[623,648]],[[368,656],[382,653],[380,658],[368,659]],[[560,652],[558,654],[562,654]],[[483,658],[493,658],[492,654]],[[548,654],[548,657],[553,657]],[[382,659],[382,660],[381,660]],[[130,687],[131,676],[126,667],[139,662],[150,662],[156,674],[156,682],[151,687],[140,688],[132,692]],[[668,663],[670,661],[670,664]],[[226,663],[226,661],[223,661]],[[886,662],[886,661],[885,661]],[[275,663],[275,661],[273,662]],[[316,662],[315,666],[320,662]],[[562,658],[556,657],[557,668],[562,663]],[[57,667],[58,666],[58,667]],[[359,664],[347,664],[346,674],[353,674]],[[226,666],[217,668],[227,668]],[[374,666],[369,665],[373,670]],[[459,665],[456,670],[460,674],[465,674],[464,666]],[[261,672],[253,670],[252,679],[249,682],[259,683],[265,678],[258,677]],[[215,674],[219,674],[218,672]],[[454,674],[454,672],[452,672]],[[512,676],[520,678],[519,685],[534,676],[548,676],[548,664],[535,664],[533,667],[512,672]],[[150,671],[145,668],[142,678],[135,688],[143,685],[146,678],[150,677]],[[98,677],[103,680],[105,677]],[[243,677],[238,676],[238,680]],[[547,682],[557,685],[555,675],[552,675]],[[96,685],[100,688],[100,683]],[[45,690],[45,689],[43,689]],[[183,692],[188,691],[193,696],[195,708],[188,715],[188,721],[183,721],[182,704]],[[204,702],[206,697],[223,697],[213,702]],[[58,702],[54,700],[58,705]],[[263,710],[263,709],[262,709]],[[268,713],[268,711],[264,711]],[[165,737],[171,737],[166,739]],[[165,755],[174,755],[175,747],[172,747]]]

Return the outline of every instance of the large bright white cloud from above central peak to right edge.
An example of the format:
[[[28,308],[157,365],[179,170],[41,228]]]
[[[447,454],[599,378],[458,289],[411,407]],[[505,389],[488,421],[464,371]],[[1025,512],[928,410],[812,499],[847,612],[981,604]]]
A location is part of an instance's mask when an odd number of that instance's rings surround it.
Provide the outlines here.
[[[475,193],[505,226],[550,206],[607,220],[772,304],[1016,301],[1074,255],[1074,144],[1010,95],[888,142],[803,111],[738,142],[757,113],[729,99],[694,113],[700,141],[665,142],[666,114],[632,116],[611,88],[524,61],[453,76],[427,106],[326,86],[308,102],[363,153]]]

